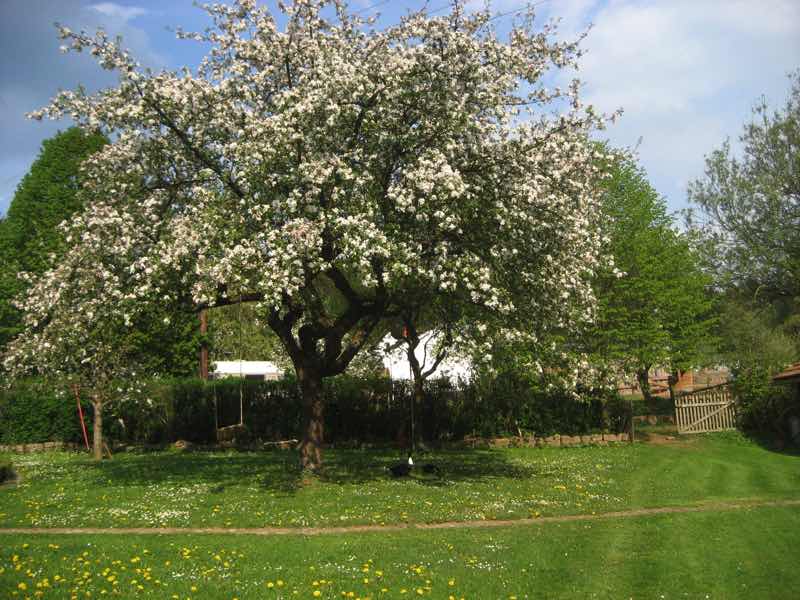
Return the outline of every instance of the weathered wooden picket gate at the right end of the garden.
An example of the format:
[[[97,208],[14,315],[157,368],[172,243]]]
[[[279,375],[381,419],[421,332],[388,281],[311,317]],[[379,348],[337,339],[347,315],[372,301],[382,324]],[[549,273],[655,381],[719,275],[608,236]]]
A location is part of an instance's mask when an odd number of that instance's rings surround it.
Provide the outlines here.
[[[678,433],[705,433],[736,428],[733,392],[728,383],[680,394],[675,398]]]

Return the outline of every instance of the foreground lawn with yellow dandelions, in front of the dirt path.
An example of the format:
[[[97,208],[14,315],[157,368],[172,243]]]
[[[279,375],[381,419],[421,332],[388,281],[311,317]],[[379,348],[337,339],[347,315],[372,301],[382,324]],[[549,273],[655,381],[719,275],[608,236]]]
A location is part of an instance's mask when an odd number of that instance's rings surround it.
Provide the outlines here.
[[[311,538],[0,535],[0,597],[785,599],[798,531],[800,508],[762,507]]]

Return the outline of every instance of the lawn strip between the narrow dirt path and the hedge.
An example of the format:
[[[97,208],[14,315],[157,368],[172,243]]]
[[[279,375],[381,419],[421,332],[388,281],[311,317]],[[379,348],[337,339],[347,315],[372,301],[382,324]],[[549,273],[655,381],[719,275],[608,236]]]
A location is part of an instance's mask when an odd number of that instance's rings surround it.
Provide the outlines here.
[[[11,457],[0,528],[341,526],[513,519],[736,499],[800,498],[800,457],[738,434],[673,445],[432,454],[444,475],[393,480],[393,452],[329,451],[302,481],[288,451]]]

